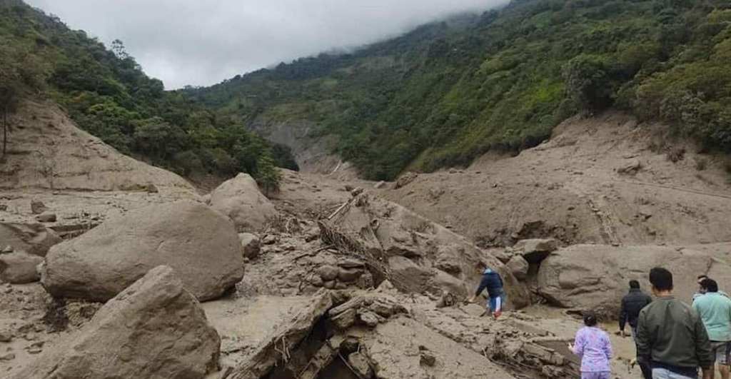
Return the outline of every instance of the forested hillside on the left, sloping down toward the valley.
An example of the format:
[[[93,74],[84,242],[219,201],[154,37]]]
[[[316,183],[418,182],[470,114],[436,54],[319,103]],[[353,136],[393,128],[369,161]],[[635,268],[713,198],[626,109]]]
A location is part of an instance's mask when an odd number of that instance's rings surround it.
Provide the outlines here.
[[[240,118],[164,91],[122,42],[107,50],[20,0],[0,0],[0,111],[12,115],[23,98],[53,99],[122,153],[182,175],[243,171],[272,185],[276,164],[294,168],[286,149],[273,149]],[[12,143],[12,118],[6,120]]]

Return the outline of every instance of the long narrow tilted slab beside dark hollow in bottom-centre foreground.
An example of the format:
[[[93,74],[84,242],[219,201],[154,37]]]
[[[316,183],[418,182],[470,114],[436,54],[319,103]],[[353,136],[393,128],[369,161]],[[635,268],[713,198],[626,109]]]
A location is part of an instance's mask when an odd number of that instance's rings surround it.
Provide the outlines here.
[[[291,320],[281,324],[269,334],[249,356],[238,364],[228,376],[230,379],[258,379],[264,377],[275,365],[289,361],[290,351],[295,350],[314,324],[333,306],[333,299],[326,291],[316,294],[312,302]]]

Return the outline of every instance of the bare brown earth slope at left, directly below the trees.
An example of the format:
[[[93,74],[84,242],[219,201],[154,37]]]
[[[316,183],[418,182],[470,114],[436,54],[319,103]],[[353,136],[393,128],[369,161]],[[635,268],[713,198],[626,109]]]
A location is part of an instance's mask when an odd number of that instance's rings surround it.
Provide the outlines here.
[[[78,129],[53,104],[25,102],[16,113],[0,188],[144,191],[150,183],[194,191],[182,177],[124,156]]]

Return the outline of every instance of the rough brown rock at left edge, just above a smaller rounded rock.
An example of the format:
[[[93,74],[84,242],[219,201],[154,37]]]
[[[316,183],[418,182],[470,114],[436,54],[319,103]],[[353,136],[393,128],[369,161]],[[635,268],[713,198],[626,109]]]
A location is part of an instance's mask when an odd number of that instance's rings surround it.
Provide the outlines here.
[[[51,246],[61,242],[61,237],[41,223],[0,222],[0,241],[14,251],[45,256]]]

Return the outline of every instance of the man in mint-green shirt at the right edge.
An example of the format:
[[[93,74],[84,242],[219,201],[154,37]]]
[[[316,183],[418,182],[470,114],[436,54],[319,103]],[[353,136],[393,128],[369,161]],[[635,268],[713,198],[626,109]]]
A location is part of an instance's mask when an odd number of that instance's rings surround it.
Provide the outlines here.
[[[722,379],[729,379],[729,354],[731,353],[731,299],[719,294],[716,280],[706,277],[700,283],[705,295],[693,302],[693,309],[700,315],[711,340],[711,350],[716,356],[716,367]],[[711,378],[714,377],[711,370]]]

